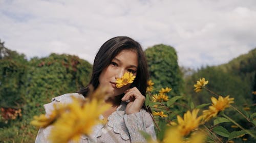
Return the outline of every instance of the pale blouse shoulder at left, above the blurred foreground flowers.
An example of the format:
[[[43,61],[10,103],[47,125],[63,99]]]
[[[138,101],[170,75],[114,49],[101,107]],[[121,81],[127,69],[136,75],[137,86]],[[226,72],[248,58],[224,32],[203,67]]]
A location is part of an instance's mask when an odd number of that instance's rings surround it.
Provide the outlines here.
[[[49,114],[53,110],[53,105],[58,104],[58,103],[71,103],[72,102],[72,97],[78,98],[78,99],[84,99],[83,95],[78,94],[78,93],[67,93],[63,94],[57,97],[52,98],[52,102],[47,103],[44,105],[44,108],[46,110],[46,113]]]

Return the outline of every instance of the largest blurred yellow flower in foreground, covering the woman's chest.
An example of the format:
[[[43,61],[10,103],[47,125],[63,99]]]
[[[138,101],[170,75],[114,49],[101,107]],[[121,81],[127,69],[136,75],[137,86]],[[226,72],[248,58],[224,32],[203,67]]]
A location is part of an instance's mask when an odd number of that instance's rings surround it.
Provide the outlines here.
[[[81,106],[79,100],[73,98],[73,102],[67,104],[68,110],[53,124],[49,139],[56,143],[79,141],[82,134],[90,134],[92,127],[101,123],[99,115],[109,107],[97,99]]]

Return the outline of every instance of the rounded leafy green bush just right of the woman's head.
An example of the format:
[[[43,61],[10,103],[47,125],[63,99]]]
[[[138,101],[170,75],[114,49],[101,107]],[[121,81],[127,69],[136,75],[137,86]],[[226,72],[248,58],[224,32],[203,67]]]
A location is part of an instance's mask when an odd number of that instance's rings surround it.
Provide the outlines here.
[[[155,88],[171,87],[173,93],[183,92],[183,80],[175,49],[167,45],[155,45],[145,50],[150,76]]]

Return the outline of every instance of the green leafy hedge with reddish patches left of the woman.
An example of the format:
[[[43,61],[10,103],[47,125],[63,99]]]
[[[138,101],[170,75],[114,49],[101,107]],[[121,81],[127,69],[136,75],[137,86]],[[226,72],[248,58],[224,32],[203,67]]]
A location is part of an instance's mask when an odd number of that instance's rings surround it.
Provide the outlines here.
[[[37,133],[29,125],[33,116],[44,112],[42,105],[52,97],[74,93],[87,85],[92,65],[74,55],[54,53],[28,61],[24,54],[0,45],[0,107],[5,109],[0,116],[0,140],[33,142]],[[21,109],[22,116],[5,119],[6,109]]]

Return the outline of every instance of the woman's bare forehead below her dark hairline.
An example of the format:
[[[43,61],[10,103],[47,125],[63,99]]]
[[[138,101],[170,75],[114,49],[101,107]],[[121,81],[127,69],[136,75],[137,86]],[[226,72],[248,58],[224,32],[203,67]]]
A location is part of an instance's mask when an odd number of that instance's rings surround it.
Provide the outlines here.
[[[133,49],[124,49],[121,50],[115,58],[120,62],[124,62],[125,64],[134,65],[138,67],[138,54],[136,50]]]

